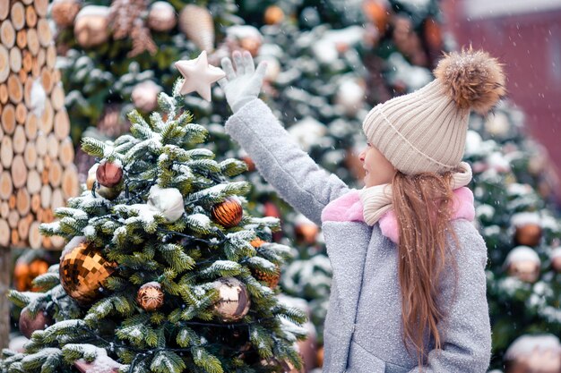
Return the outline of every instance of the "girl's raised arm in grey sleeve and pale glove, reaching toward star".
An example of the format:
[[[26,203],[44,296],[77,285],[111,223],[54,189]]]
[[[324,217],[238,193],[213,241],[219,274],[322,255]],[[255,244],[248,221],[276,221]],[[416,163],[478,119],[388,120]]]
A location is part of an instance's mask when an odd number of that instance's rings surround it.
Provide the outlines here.
[[[246,150],[280,197],[320,225],[324,207],[348,191],[347,185],[316,165],[257,98],[266,65],[262,63],[255,70],[248,52],[243,56],[235,52],[233,57],[237,72],[225,58],[222,68],[226,78],[219,81],[234,112],[226,131]]]

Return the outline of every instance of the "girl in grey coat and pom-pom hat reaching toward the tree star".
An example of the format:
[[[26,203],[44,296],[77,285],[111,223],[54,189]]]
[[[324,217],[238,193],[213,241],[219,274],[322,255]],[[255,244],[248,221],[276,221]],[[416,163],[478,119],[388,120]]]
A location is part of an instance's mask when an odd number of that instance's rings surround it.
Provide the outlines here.
[[[234,112],[226,131],[324,231],[333,269],[324,372],[485,372],[487,249],[470,223],[461,161],[470,109],[486,114],[505,94],[501,65],[471,49],[446,55],[435,81],[375,106],[357,191],[320,169],[257,98],[266,65],[255,70],[247,52],[233,59],[219,81]]]

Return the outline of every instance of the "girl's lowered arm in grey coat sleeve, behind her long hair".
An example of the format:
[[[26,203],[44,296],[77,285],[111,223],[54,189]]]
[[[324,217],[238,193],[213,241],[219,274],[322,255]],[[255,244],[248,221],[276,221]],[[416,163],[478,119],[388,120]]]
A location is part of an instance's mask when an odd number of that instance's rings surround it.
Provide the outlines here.
[[[454,223],[460,248],[455,250],[458,264],[457,292],[450,284],[453,271],[444,275],[442,294],[448,318],[444,320],[442,350],[428,353],[424,373],[485,373],[491,358],[485,267],[487,247],[477,230],[466,220]],[[440,327],[439,327],[440,328]],[[419,367],[410,373],[419,373]]]

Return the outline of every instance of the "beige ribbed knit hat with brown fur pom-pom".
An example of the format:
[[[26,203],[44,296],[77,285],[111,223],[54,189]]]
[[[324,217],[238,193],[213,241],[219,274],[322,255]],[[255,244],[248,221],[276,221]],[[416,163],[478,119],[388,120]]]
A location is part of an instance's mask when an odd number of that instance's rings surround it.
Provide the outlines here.
[[[375,106],[362,128],[403,174],[443,173],[461,161],[470,110],[487,114],[505,96],[502,65],[471,48],[444,55],[436,80]]]

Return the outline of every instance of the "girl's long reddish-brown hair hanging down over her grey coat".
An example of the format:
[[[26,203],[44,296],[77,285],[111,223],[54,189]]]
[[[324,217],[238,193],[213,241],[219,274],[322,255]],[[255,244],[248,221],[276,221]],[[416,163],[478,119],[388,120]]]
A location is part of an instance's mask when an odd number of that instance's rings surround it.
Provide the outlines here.
[[[453,191],[452,173],[393,177],[393,208],[399,225],[398,278],[401,288],[402,338],[408,352],[410,344],[417,352],[419,366],[426,360],[425,337],[434,339],[434,348],[442,348],[443,331],[438,324],[445,317],[439,304],[439,279],[444,268],[456,262],[447,255],[451,229]],[[454,284],[455,289],[455,284]]]

